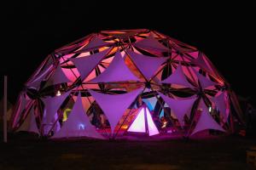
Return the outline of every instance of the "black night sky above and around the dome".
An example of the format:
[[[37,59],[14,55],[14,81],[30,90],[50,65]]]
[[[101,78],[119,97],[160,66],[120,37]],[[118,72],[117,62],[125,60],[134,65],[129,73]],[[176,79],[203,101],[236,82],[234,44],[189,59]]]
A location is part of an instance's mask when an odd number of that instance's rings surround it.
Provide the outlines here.
[[[20,1],[1,5],[1,96],[4,74],[9,76],[9,100],[14,103],[22,84],[55,48],[91,32],[148,28],[199,48],[237,94],[256,100],[255,3],[150,2]]]

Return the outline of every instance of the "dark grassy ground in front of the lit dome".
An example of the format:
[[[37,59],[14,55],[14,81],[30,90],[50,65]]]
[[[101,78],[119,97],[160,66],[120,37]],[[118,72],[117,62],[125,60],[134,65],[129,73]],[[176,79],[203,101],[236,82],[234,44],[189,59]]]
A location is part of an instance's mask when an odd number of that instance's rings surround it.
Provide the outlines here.
[[[0,143],[0,169],[253,169],[255,139],[49,141],[15,136]]]

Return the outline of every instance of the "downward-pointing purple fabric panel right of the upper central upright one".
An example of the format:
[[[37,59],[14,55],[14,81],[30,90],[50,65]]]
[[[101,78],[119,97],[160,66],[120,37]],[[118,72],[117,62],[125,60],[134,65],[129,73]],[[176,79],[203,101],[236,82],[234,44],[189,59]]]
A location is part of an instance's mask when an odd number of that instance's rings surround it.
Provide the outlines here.
[[[166,61],[166,58],[149,57],[143,54],[137,54],[131,50],[127,50],[131,59],[137,65],[138,69],[143,73],[143,76],[148,80],[154,76],[155,71],[160,68],[160,65]]]

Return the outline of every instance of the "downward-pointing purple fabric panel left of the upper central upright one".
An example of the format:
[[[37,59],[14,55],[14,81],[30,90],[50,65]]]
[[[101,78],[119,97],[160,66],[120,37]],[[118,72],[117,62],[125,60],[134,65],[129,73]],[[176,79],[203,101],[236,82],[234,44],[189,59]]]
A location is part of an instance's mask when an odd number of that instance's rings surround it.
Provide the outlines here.
[[[74,65],[76,65],[77,69],[79,70],[81,80],[83,81],[84,78],[90,74],[90,71],[92,71],[96,67],[96,65],[99,64],[99,62],[105,57],[107,53],[108,49],[100,53],[91,54],[79,58],[73,58],[70,60],[74,63]]]

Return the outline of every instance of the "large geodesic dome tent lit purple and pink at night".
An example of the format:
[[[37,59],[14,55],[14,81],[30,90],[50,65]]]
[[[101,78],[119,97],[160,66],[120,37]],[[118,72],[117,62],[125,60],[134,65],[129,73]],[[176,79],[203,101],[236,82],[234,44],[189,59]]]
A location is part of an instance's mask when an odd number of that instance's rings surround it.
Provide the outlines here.
[[[151,136],[166,124],[188,135],[230,132],[241,119],[205,54],[147,29],[101,31],[59,48],[25,86],[11,127],[50,138]]]

